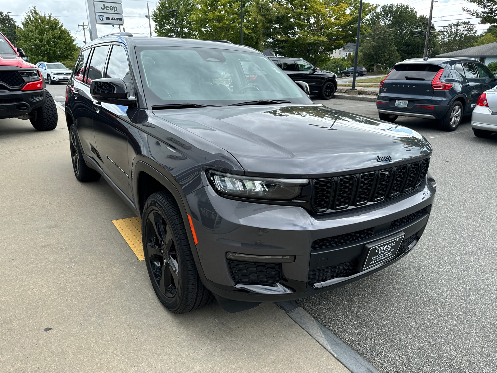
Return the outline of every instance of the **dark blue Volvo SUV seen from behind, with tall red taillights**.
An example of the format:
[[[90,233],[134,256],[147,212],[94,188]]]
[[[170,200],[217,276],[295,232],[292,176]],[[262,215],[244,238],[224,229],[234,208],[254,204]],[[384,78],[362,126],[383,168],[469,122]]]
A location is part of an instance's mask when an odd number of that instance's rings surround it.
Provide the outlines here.
[[[478,97],[497,85],[497,74],[474,58],[413,58],[399,62],[380,83],[378,116],[394,122],[399,115],[438,119],[454,131]]]

